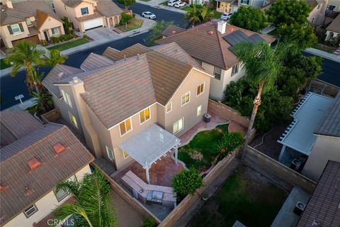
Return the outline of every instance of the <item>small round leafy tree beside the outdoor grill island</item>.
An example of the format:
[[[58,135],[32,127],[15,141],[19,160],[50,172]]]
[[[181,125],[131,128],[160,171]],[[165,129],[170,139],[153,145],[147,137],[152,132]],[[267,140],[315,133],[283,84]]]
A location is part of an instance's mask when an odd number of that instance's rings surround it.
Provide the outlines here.
[[[187,194],[194,194],[197,189],[203,187],[203,179],[197,170],[182,170],[172,179],[172,187],[176,193],[177,199],[183,199]]]

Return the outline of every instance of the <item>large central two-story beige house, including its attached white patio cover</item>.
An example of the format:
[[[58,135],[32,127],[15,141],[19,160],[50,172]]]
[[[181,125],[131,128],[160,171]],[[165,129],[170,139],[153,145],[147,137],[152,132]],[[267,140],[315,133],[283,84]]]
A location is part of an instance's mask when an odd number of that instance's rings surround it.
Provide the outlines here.
[[[136,44],[91,53],[80,69],[57,65],[42,84],[62,117],[84,133],[96,157],[118,170],[133,160],[144,167],[143,158],[157,160],[176,149],[176,137],[208,111],[211,77],[176,43]],[[132,143],[140,145],[137,153],[124,150],[135,136],[147,138]]]

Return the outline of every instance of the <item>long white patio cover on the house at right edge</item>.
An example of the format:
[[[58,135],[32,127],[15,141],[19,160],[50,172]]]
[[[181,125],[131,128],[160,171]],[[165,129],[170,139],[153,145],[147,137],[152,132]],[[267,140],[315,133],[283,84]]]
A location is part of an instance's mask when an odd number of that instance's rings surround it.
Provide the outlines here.
[[[312,92],[307,94],[305,101],[302,101],[293,112],[294,121],[288,126],[278,143],[283,144],[283,148],[287,146],[309,156],[317,139],[313,134],[314,128],[324,117],[331,101],[332,99],[326,96]],[[280,157],[283,155],[283,150]]]

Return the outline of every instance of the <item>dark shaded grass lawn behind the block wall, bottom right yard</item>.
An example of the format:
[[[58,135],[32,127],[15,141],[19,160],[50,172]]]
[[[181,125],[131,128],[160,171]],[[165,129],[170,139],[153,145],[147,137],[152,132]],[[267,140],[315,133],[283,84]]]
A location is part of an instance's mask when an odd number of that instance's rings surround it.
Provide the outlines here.
[[[189,226],[271,226],[288,195],[249,167],[240,167],[193,217]]]

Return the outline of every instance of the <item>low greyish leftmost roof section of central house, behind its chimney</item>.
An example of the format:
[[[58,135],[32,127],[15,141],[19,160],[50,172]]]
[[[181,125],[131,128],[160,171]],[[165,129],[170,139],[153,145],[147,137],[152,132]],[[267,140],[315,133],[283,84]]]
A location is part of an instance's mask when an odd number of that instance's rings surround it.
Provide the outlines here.
[[[44,85],[52,94],[57,96],[58,99],[62,98],[62,94],[60,94],[59,87],[53,85],[55,82],[60,79],[64,79],[67,77],[72,77],[74,74],[78,74],[80,72],[84,72],[81,69],[71,67],[68,65],[56,65],[42,80],[42,85]]]

